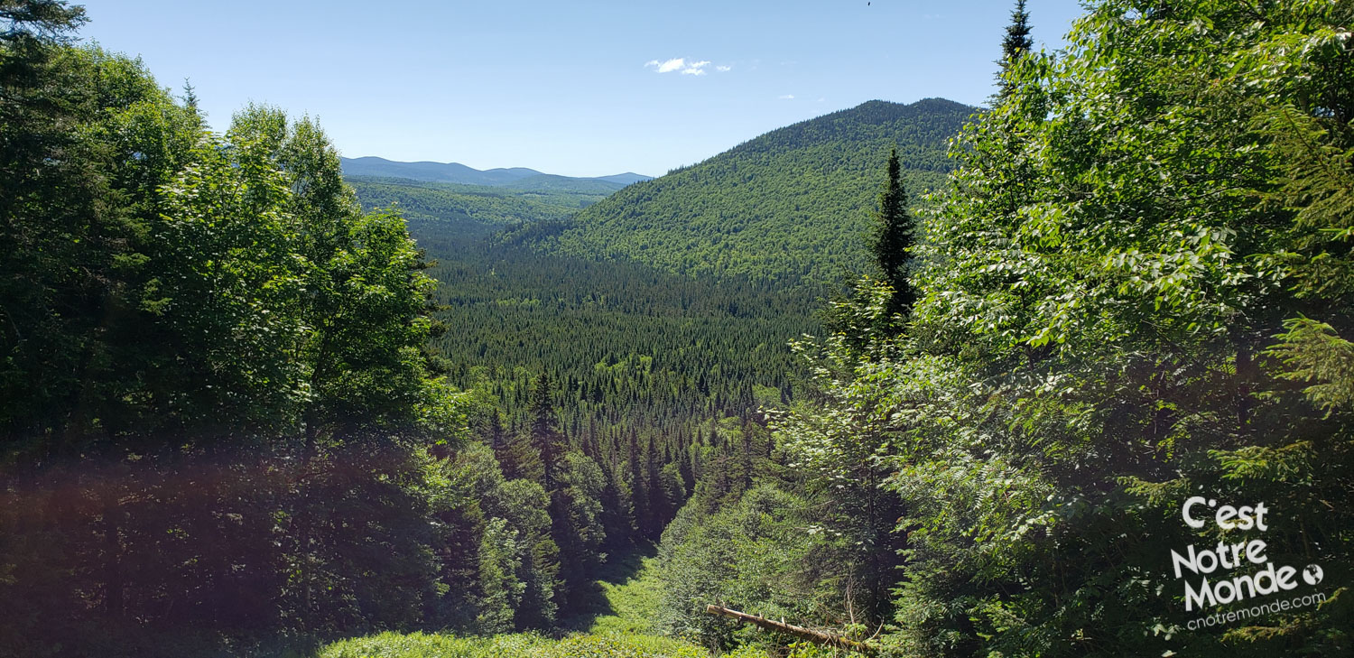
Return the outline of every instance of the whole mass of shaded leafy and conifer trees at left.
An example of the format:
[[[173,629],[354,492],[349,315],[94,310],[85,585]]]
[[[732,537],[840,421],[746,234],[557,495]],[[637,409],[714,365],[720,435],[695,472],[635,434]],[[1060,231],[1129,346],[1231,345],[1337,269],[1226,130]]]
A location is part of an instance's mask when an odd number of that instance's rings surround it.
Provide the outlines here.
[[[0,653],[424,621],[458,577],[429,520],[466,509],[427,448],[466,418],[403,221],[360,211],[313,122],[207,133],[58,27],[0,50]]]

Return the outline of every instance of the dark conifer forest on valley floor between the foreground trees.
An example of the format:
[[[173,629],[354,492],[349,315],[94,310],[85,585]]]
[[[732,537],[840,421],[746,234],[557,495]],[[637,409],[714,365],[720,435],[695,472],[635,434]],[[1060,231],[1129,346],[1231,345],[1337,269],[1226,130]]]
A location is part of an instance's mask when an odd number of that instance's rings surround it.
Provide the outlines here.
[[[410,232],[439,282],[447,332],[432,347],[478,402],[471,432],[516,473],[508,454],[531,452],[547,386],[561,437],[613,481],[608,550],[658,539],[716,454],[765,444],[758,408],[803,376],[787,344],[816,329],[816,303],[796,291],[536,253],[440,222]]]

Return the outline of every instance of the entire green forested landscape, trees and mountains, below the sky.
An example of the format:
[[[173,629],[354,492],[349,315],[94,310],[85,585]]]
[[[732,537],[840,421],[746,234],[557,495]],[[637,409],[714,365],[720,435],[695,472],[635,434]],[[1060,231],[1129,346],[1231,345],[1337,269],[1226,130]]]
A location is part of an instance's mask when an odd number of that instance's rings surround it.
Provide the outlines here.
[[[492,184],[97,19],[0,0],[0,657],[1354,655],[1350,0]]]

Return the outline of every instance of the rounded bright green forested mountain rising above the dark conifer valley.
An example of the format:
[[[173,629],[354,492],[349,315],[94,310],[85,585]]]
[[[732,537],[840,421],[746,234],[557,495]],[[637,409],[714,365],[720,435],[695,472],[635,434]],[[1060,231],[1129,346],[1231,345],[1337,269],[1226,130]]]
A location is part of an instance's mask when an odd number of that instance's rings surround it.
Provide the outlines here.
[[[945,180],[946,139],[975,111],[944,99],[871,100],[634,183],[515,240],[688,275],[822,284],[867,268],[865,234],[890,149],[898,148],[915,207]]]

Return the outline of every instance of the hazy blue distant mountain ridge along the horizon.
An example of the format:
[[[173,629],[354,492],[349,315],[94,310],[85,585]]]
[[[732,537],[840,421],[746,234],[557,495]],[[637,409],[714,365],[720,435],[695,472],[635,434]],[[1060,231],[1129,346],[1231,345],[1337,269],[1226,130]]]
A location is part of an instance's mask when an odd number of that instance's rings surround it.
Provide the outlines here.
[[[556,187],[559,187],[558,183],[562,181],[598,181],[605,185],[611,185],[612,190],[620,190],[631,183],[650,180],[650,176],[632,172],[615,173],[611,176],[575,177],[538,172],[536,169],[528,169],[525,167],[513,167],[508,169],[475,169],[460,162],[399,162],[375,156],[351,158],[343,157],[338,160],[343,164],[343,173],[345,176],[409,179],[429,183],[458,183],[463,185],[510,185],[531,188],[533,185],[548,185],[551,181],[555,181]],[[546,179],[533,183],[533,180],[542,176]]]

